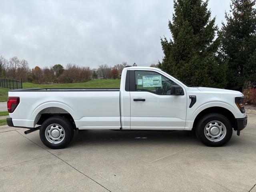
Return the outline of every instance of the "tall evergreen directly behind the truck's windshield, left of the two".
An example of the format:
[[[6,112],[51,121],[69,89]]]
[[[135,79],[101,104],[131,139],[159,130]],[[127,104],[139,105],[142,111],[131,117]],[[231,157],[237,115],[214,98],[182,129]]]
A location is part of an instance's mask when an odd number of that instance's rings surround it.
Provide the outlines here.
[[[172,38],[161,38],[164,58],[159,66],[189,86],[223,88],[226,64],[216,54],[218,28],[207,6],[208,0],[174,0],[174,14],[168,25]]]

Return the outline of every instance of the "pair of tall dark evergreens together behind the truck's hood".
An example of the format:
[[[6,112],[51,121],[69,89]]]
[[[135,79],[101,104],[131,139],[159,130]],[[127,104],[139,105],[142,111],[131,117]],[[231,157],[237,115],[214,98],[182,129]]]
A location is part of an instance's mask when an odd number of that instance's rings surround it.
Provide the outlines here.
[[[159,67],[189,86],[241,91],[245,82],[256,81],[256,1],[231,0],[221,29],[208,2],[174,0],[172,38],[161,38]]]

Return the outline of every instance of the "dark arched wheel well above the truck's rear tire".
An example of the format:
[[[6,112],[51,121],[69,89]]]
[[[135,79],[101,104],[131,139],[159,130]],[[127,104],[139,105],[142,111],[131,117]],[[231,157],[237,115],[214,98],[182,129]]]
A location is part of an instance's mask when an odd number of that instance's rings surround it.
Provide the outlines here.
[[[53,116],[61,116],[69,120],[72,125],[74,126],[74,129],[76,129],[76,124],[74,122],[73,117],[70,113],[68,113],[66,110],[58,107],[49,107],[41,110],[38,115],[36,116],[34,124],[36,125],[42,125],[42,123]]]

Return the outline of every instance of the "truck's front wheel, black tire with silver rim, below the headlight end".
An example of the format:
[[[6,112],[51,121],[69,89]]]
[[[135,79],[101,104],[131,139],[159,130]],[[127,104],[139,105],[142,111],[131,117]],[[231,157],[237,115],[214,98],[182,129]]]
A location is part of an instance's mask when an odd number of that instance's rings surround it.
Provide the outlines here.
[[[209,132],[208,130],[212,131]],[[223,146],[230,140],[230,138],[232,137],[232,133],[232,125],[228,118],[218,113],[207,114],[200,118],[200,120],[196,124],[196,136],[203,144],[207,146]],[[217,136],[220,138],[218,138]]]

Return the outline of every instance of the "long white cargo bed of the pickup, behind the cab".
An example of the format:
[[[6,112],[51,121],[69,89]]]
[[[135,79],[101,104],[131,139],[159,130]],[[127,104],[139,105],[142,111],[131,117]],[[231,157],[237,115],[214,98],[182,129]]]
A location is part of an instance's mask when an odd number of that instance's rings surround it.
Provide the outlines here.
[[[68,113],[82,129],[120,129],[120,90],[36,88],[9,91],[20,104],[10,113],[14,126],[34,127],[42,114]]]

